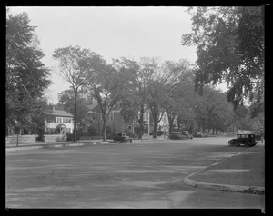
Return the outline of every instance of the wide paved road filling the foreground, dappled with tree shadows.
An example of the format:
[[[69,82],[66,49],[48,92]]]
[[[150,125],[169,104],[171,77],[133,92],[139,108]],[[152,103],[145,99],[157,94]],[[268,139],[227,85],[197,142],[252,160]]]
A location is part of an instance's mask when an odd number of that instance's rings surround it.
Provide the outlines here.
[[[256,208],[265,197],[188,186],[190,173],[246,151],[228,138],[6,152],[7,208]]]

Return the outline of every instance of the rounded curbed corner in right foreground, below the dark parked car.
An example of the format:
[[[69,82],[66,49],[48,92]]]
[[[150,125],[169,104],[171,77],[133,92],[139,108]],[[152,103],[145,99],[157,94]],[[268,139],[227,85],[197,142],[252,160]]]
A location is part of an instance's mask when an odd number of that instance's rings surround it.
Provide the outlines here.
[[[246,152],[238,153],[238,155],[194,172],[188,175],[184,182],[191,186],[216,190],[264,193],[264,144],[258,142],[256,146],[248,148]]]

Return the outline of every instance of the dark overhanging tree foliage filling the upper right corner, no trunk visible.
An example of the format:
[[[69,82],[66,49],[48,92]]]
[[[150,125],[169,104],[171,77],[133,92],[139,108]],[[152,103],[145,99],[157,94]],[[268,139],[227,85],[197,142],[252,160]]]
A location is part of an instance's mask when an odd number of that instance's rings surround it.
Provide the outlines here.
[[[197,45],[196,90],[226,81],[227,99],[236,108],[248,98],[262,103],[264,25],[261,7],[189,8],[192,33],[182,45]]]

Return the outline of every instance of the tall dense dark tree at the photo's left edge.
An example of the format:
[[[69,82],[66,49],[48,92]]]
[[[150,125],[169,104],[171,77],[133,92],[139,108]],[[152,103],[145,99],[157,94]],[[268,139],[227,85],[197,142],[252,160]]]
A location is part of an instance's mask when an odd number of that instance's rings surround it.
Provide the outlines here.
[[[35,26],[24,12],[6,17],[5,102],[6,126],[35,125],[33,116],[44,111],[43,94],[51,81],[42,63]]]

